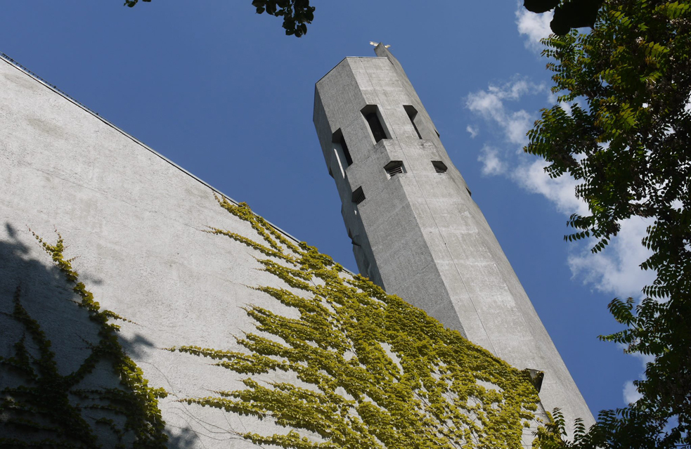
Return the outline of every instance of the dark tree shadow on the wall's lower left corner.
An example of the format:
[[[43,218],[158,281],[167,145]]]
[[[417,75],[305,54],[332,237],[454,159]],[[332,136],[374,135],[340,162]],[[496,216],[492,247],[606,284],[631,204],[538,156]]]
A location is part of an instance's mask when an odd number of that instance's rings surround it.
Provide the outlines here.
[[[120,382],[121,374],[108,355],[107,333],[93,319],[93,312],[79,306],[74,283],[51,263],[39,243],[32,247],[24,242],[25,233],[20,235],[6,223],[4,234],[6,239],[0,240],[0,446],[60,442],[84,448],[120,443],[129,448],[138,446],[135,433],[143,432],[153,443],[146,447],[189,447],[195,438],[192,431],[178,429],[165,444],[162,422],[155,413],[142,415],[133,406],[136,395]],[[50,241],[53,236],[45,237]],[[128,353],[151,345],[141,336],[113,341]]]

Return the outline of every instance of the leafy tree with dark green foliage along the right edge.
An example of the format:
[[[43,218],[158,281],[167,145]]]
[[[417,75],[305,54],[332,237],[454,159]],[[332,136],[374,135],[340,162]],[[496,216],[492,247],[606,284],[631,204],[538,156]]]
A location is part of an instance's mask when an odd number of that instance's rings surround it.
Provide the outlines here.
[[[590,436],[599,447],[688,448],[691,1],[607,0],[590,33],[543,42],[543,55],[554,60],[548,63],[553,92],[571,108],[543,110],[525,150],[550,163],[550,176],[580,181],[576,195],[589,214],[571,216],[576,232],[566,238],[594,237],[593,252],[600,252],[622,220],[652,221],[642,240],[652,256],[641,268],[657,278],[638,306],[633,299],[609,304],[626,329],[601,338],[653,356],[654,363],[635,382],[643,398],[600,415]],[[626,436],[625,429],[635,431]]]

